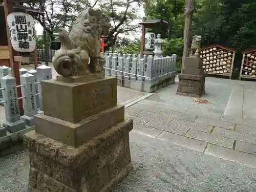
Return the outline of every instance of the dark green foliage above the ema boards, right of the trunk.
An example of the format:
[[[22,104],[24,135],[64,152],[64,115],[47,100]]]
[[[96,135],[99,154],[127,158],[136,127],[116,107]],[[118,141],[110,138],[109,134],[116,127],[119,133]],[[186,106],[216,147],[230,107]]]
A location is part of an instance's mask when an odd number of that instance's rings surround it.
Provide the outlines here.
[[[193,34],[202,45],[220,44],[237,49],[255,48],[256,3],[252,0],[201,0],[193,17]]]

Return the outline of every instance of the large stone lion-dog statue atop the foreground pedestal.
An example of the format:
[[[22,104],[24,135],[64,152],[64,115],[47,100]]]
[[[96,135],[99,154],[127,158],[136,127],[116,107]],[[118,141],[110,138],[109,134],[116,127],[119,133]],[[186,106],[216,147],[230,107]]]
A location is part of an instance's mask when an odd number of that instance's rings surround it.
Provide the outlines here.
[[[61,47],[52,59],[56,72],[65,77],[102,72],[105,59],[100,56],[100,36],[108,35],[110,27],[108,16],[89,8],[77,16],[69,34],[60,28]]]

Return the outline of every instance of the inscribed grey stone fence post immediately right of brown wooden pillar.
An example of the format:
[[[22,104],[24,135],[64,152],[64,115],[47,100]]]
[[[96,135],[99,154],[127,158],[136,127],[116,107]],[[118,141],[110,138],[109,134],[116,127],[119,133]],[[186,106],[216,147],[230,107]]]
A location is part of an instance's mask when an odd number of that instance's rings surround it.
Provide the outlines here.
[[[22,87],[24,115],[22,120],[29,126],[33,125],[34,115],[37,114],[35,77],[30,73],[20,76]]]

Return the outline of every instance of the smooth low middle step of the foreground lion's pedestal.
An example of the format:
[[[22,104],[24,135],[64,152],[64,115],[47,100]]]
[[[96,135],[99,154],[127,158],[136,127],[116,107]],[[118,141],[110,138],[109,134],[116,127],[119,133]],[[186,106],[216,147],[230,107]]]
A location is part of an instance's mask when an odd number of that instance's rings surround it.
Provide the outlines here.
[[[78,123],[39,114],[34,116],[34,124],[36,133],[78,147],[123,119],[124,106],[117,105]]]

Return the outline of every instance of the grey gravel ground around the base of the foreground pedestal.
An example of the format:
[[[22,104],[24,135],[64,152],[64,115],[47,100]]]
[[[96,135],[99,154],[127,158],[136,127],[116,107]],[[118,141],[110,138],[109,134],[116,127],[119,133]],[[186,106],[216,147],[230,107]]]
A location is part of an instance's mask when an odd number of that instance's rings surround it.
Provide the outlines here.
[[[132,132],[133,172],[113,192],[255,191],[256,169]],[[31,192],[26,150],[0,158],[0,191]]]

